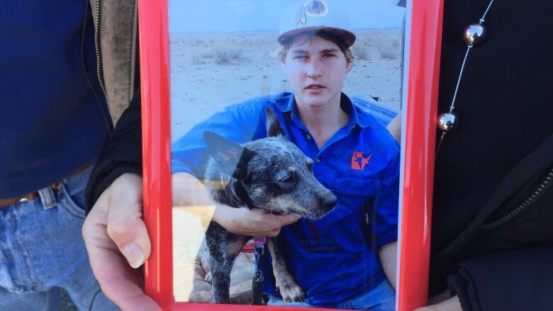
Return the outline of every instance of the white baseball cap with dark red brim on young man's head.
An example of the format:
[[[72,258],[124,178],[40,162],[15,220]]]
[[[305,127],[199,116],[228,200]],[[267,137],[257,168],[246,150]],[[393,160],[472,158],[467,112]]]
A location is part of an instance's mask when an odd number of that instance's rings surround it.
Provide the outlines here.
[[[342,38],[347,47],[352,46],[355,35],[350,31],[350,19],[337,2],[328,6],[328,1],[303,0],[286,7],[280,18],[279,43],[298,33],[325,30]]]

